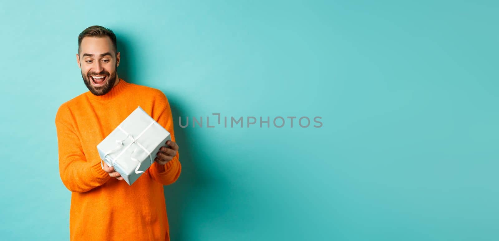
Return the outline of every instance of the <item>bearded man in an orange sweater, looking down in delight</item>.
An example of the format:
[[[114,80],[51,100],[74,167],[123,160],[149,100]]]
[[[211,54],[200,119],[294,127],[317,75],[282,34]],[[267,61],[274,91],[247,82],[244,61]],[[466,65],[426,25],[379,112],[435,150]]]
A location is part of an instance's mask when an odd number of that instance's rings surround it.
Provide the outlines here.
[[[180,176],[179,146],[163,92],[125,82],[117,74],[120,53],[110,29],[90,26],[78,36],[76,61],[85,92],[57,110],[59,174],[71,193],[71,241],[169,241],[163,185]],[[140,106],[171,133],[155,162],[129,186],[104,164],[100,143]],[[156,154],[156,153],[153,153]]]

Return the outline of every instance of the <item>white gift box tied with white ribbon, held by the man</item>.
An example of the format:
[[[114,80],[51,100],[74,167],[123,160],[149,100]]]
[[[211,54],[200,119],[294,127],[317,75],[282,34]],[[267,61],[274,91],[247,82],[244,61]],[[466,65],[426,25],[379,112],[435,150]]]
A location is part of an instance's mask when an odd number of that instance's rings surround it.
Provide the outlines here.
[[[132,185],[170,139],[170,132],[139,106],[97,145],[102,169],[104,161]]]

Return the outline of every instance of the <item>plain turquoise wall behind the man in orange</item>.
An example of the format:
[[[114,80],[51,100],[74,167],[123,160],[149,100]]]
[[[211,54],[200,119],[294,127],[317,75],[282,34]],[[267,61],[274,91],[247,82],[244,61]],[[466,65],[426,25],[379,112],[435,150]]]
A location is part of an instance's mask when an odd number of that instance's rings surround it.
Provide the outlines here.
[[[174,241],[499,240],[497,1],[2,1],[1,240],[68,240],[55,113],[90,25],[162,90]],[[321,116],[321,128],[178,117]],[[211,122],[212,123],[212,122]],[[246,122],[245,122],[246,123]]]

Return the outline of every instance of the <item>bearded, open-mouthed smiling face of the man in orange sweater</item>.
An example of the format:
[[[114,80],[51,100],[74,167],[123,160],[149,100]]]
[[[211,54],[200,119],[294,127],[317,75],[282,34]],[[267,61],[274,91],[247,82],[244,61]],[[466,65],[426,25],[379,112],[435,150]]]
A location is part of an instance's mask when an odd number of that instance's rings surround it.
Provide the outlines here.
[[[116,69],[120,53],[115,54],[109,37],[84,37],[76,59],[81,77],[92,94],[105,95],[118,84]]]

